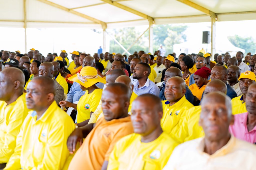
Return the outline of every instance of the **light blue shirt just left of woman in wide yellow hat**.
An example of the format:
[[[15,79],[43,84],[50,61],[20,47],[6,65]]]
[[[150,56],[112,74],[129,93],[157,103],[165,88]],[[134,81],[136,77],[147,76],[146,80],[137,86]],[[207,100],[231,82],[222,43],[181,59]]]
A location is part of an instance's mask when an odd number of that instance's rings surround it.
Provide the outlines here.
[[[66,101],[73,103],[75,101],[78,101],[81,98],[81,96],[83,96],[84,94],[85,94],[85,91],[83,91],[80,88],[79,83],[74,82],[70,87],[69,93],[67,95],[68,98]]]

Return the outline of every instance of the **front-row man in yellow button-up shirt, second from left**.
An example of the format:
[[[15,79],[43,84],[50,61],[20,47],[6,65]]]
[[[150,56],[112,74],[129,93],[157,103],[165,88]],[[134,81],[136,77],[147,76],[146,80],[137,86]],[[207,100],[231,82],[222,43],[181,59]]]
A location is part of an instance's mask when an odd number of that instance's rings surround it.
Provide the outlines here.
[[[54,100],[56,86],[49,77],[28,83],[26,104],[30,112],[17,136],[15,152],[4,170],[63,169],[69,156],[66,146],[74,122]]]

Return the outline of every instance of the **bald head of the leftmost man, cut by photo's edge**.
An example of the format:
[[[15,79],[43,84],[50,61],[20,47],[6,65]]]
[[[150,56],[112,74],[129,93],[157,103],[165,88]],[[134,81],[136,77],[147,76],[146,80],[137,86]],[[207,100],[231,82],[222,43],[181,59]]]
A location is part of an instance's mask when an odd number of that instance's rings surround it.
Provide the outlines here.
[[[14,67],[4,69],[0,72],[0,81],[0,100],[9,101],[13,96],[18,98],[22,95],[25,75],[20,69]]]

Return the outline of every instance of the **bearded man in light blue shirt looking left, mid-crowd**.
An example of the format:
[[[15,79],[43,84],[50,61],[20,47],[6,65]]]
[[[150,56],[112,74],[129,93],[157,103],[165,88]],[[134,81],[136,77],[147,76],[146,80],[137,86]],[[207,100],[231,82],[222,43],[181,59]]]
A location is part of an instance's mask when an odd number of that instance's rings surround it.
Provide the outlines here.
[[[138,81],[134,81],[133,92],[135,94],[153,94],[155,96],[159,96],[160,90],[157,85],[148,79],[148,76],[151,73],[151,68],[147,63],[140,62],[135,66],[133,70],[133,79]]]

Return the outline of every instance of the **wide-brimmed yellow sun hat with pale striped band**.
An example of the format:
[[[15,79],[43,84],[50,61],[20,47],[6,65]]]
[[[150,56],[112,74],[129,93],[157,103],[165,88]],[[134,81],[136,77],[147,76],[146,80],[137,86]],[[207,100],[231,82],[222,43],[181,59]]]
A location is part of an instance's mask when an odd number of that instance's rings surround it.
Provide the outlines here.
[[[95,83],[106,84],[106,80],[97,74],[97,70],[94,67],[90,66],[83,67],[80,73],[72,75],[68,80],[77,82],[86,88],[91,87]]]

